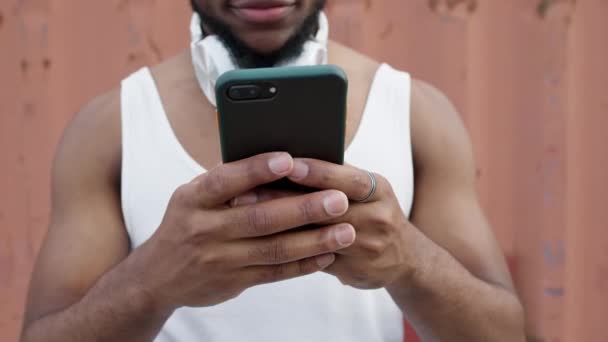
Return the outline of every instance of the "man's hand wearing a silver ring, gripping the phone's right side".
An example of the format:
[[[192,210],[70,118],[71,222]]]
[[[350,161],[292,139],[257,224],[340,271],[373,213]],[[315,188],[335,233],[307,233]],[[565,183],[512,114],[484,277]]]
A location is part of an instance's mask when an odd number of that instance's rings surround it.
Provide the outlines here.
[[[296,159],[288,176],[293,182],[315,189],[335,189],[351,200],[365,198],[371,190],[366,171],[321,160]],[[336,261],[325,271],[345,285],[361,289],[386,287],[415,269],[415,234],[401,210],[389,182],[375,175],[376,190],[365,203],[351,203],[348,212],[323,224],[348,223],[357,231],[355,243],[336,252]],[[288,198],[294,193],[258,189],[245,193],[232,204]]]

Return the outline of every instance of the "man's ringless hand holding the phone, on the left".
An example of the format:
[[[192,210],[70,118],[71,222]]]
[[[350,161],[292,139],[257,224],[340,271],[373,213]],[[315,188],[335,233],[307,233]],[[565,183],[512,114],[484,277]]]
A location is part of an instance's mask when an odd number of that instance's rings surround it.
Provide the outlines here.
[[[349,224],[290,231],[344,215],[348,199],[339,191],[227,205],[292,169],[289,154],[262,154],[218,166],[175,191],[160,227],[129,262],[158,309],[211,306],[255,285],[323,270],[333,252],[354,242]]]

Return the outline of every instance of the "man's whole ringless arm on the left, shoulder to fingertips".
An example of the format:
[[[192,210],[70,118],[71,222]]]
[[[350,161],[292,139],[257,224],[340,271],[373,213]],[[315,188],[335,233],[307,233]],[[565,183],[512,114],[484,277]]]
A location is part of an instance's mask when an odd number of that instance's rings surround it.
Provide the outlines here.
[[[226,205],[292,172],[293,158],[277,152],[222,164],[178,187],[155,233],[130,252],[118,190],[118,102],[117,92],[94,101],[60,145],[22,341],[150,341],[180,307],[213,306],[323,270],[354,242],[349,225],[292,231],[343,215],[348,200],[339,191]]]

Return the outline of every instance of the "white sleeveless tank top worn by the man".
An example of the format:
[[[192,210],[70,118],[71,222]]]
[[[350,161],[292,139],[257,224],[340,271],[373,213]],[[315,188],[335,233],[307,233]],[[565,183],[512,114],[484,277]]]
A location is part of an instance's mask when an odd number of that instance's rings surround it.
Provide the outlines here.
[[[378,69],[345,161],[384,175],[409,216],[413,199],[408,74]],[[175,136],[149,69],[122,82],[122,210],[132,248],[159,226],[173,191],[203,167]],[[386,290],[358,290],[316,273],[256,286],[208,308],[182,308],[156,342],[403,341],[403,315]]]

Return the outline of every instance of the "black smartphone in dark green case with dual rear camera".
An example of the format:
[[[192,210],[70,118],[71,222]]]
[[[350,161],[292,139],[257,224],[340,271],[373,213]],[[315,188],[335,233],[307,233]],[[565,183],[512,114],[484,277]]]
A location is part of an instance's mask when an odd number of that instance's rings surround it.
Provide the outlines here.
[[[225,73],[216,83],[223,162],[284,151],[343,164],[347,92],[333,65]]]

